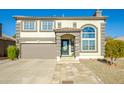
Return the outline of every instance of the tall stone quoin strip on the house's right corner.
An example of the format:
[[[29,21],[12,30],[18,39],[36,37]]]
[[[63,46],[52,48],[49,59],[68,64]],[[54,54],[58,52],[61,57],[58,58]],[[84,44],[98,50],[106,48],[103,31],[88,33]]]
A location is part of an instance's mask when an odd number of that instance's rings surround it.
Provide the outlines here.
[[[105,56],[105,23],[101,23],[101,56]]]

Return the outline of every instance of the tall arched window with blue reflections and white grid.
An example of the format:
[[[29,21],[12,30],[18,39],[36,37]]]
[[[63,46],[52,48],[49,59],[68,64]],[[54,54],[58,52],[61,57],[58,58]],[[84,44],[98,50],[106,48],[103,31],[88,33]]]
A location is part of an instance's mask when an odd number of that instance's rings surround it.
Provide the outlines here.
[[[93,51],[96,50],[96,28],[85,26],[81,31],[81,50]]]

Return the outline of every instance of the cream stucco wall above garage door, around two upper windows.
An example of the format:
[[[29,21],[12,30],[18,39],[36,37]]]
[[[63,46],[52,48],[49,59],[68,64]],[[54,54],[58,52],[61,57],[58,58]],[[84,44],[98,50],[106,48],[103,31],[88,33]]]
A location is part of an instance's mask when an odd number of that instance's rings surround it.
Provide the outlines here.
[[[23,21],[17,20],[18,23],[21,23],[20,38],[55,38],[55,32],[48,32],[48,31],[41,32],[40,30],[41,20],[35,20],[35,21],[37,24],[36,31],[24,31]],[[20,43],[55,43],[55,42],[38,40],[38,41],[25,41]]]

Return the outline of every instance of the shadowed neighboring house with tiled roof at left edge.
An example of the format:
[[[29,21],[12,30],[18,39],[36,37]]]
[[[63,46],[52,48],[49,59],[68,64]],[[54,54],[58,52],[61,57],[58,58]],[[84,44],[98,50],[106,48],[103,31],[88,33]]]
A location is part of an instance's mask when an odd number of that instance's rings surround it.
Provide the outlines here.
[[[15,39],[6,35],[2,35],[2,24],[0,24],[0,57],[7,56],[7,47],[15,45]]]

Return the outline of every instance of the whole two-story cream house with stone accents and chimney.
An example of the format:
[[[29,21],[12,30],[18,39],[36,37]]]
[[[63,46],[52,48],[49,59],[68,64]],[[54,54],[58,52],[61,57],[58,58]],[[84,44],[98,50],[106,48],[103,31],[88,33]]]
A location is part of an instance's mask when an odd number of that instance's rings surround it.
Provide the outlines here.
[[[104,58],[105,20],[100,10],[90,17],[14,16],[20,58],[77,60]]]

